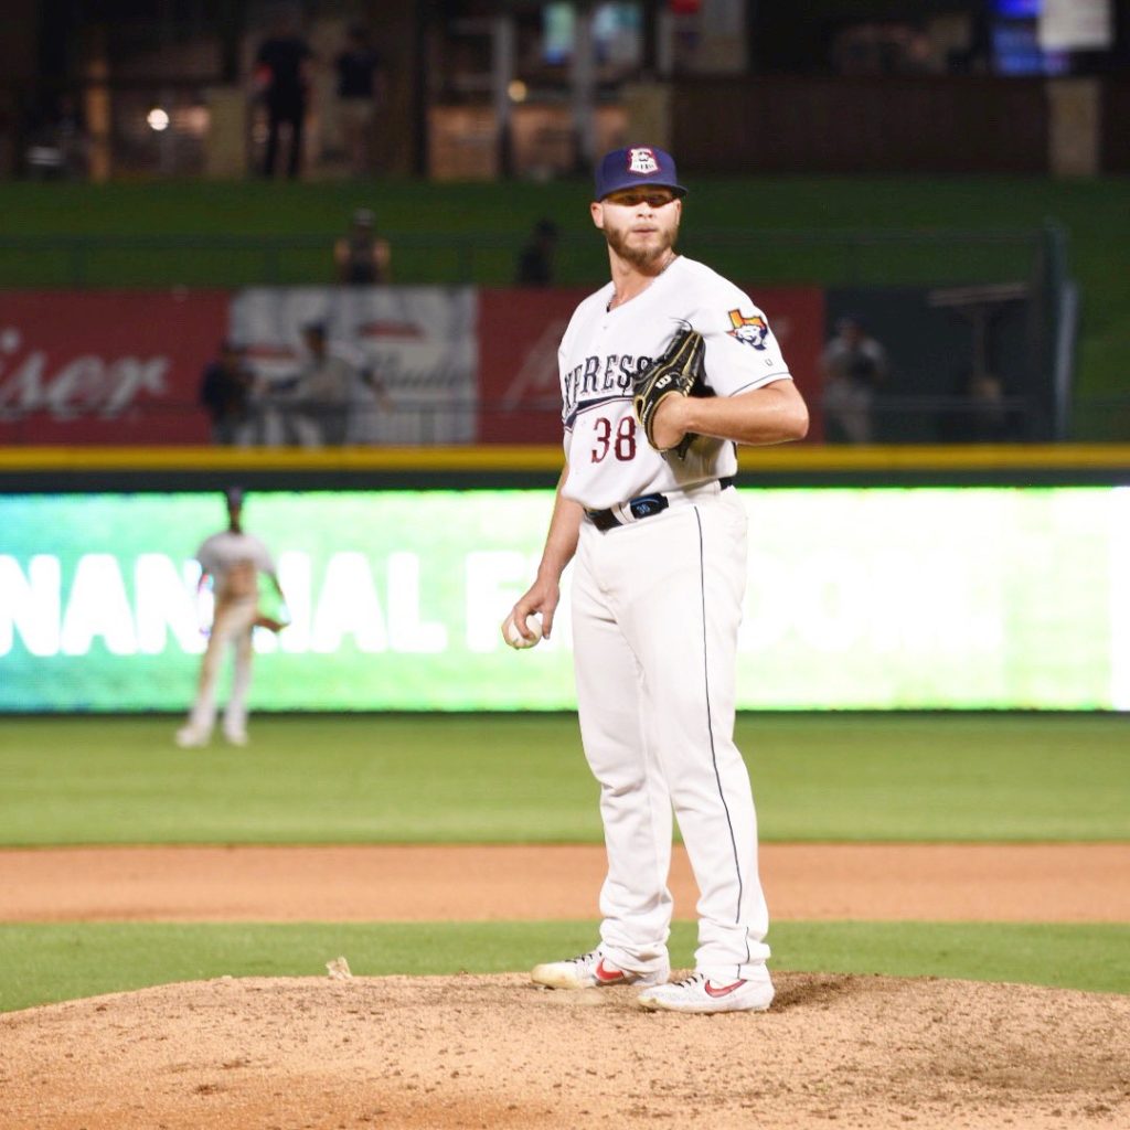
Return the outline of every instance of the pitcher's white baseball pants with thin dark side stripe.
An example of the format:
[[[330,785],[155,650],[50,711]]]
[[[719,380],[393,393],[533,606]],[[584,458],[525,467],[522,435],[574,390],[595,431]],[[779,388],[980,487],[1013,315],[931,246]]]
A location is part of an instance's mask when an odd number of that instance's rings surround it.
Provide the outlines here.
[[[667,964],[673,808],[699,890],[696,970],[764,976],[757,817],[733,744],[746,524],[737,492],[716,484],[631,525],[582,523],[577,706],[608,853],[602,948],[623,968]]]

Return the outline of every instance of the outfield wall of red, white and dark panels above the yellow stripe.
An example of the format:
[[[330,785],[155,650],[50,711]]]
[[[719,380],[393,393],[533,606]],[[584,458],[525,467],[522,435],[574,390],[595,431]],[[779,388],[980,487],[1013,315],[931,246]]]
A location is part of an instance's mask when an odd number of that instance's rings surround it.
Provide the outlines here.
[[[1069,382],[1053,380],[1055,319],[1042,313],[1034,277],[990,287],[748,289],[809,405],[810,444],[845,438],[834,419],[825,427],[820,365],[844,315],[862,318],[887,357],[871,410],[877,443],[1064,432]],[[255,388],[231,437],[240,446],[559,443],[557,346],[584,294],[470,286],[8,292],[0,445],[208,444],[198,393],[221,340],[244,349]],[[308,380],[303,328],[311,323],[327,327],[329,353],[341,363],[319,385],[328,397],[321,405],[298,394]],[[626,388],[643,358],[615,362],[586,380]],[[324,429],[321,409],[334,420]]]

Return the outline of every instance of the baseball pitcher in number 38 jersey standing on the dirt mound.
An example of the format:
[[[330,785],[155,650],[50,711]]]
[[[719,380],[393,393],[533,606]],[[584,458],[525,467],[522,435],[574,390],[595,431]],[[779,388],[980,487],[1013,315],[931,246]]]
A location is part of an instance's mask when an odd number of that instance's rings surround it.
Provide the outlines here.
[[[532,586],[503,625],[553,631],[572,560],[585,757],[608,873],[600,942],[533,970],[556,989],[633,984],[647,1009],[768,1008],[757,820],[733,742],[746,514],[736,444],[799,440],[808,411],[748,295],[675,251],[685,189],[653,146],[609,153],[592,221],[611,281],[558,353],[565,468]],[[690,977],[671,983],[672,811],[699,887]]]

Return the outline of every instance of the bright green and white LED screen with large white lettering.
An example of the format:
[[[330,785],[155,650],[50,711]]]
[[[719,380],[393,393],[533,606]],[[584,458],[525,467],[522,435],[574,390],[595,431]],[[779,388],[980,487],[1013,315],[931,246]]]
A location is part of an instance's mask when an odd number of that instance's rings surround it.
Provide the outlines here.
[[[742,709],[1130,709],[1130,490],[741,497]],[[498,633],[551,505],[251,494],[294,618],[257,637],[253,709],[572,707],[567,574],[551,642],[515,652]],[[0,710],[185,709],[205,643],[192,557],[224,522],[212,493],[0,497]]]

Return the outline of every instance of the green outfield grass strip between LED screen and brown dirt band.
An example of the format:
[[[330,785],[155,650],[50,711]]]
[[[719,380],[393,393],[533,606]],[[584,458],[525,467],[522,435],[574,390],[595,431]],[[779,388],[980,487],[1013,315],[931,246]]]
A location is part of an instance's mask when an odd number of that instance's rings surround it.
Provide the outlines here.
[[[0,844],[598,843],[570,715],[5,719]],[[1130,720],[745,714],[767,841],[1130,841]]]

